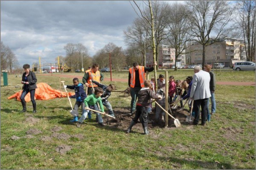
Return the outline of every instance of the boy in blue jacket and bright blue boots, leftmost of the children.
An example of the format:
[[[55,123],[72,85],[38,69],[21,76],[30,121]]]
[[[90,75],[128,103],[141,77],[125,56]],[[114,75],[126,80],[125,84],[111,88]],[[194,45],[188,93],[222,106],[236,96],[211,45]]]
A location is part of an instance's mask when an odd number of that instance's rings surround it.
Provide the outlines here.
[[[68,89],[75,89],[75,95],[70,96],[70,98],[76,98],[76,103],[74,106],[74,112],[77,113],[78,108],[81,106],[82,111],[84,109],[84,99],[87,97],[86,93],[84,92],[84,85],[79,83],[78,78],[73,78],[73,86],[65,86]],[[72,113],[72,112],[71,112]],[[78,121],[78,115],[74,114],[74,119],[70,122]]]

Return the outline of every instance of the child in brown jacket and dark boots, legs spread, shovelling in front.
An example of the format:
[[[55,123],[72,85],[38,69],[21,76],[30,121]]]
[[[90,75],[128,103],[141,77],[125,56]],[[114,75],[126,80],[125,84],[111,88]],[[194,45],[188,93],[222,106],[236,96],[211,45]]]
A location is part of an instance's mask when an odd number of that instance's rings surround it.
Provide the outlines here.
[[[150,99],[157,99],[161,98],[160,95],[154,95],[154,92],[149,89],[150,87],[150,81],[146,80],[144,81],[144,87],[140,89],[138,93],[138,101],[136,103],[136,113],[135,117],[132,119],[130,126],[128,127],[128,130],[126,130],[126,133],[131,132],[131,128],[134,124],[137,123],[138,119],[140,118],[140,122],[142,123],[143,130],[145,135],[148,135],[148,120],[147,120],[147,109],[150,104]]]

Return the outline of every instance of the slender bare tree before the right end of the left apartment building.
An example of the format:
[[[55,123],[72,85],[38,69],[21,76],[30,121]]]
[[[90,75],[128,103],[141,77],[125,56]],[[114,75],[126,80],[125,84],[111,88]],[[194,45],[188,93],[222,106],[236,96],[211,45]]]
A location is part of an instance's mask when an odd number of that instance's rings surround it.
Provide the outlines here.
[[[186,5],[180,3],[174,3],[170,7],[168,34],[166,41],[175,49],[175,70],[177,70],[177,59],[181,54],[186,54],[186,42],[188,42],[191,36],[188,34],[191,29],[189,23],[189,11],[186,9]]]

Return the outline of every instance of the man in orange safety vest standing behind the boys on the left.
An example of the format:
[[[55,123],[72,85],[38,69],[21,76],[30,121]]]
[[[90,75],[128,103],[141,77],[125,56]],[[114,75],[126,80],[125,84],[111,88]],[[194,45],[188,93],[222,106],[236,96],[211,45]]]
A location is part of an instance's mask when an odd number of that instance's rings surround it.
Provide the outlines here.
[[[83,83],[88,88],[88,95],[93,94],[93,87],[97,87],[96,84],[90,82],[90,80],[94,80],[97,82],[103,81],[104,76],[101,72],[99,72],[99,64],[94,63],[90,71],[84,73]]]

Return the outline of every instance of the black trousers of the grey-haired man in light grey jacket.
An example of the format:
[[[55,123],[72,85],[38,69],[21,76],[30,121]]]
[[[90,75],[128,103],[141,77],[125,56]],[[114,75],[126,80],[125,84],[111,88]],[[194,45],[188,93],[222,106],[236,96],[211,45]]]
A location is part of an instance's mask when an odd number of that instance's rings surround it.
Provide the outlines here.
[[[207,119],[207,100],[208,100],[208,98],[194,100],[194,104],[193,104],[193,110],[195,111],[195,119],[194,119],[194,122],[193,122],[194,124],[199,123],[200,106],[201,106],[201,121],[202,121],[202,124],[206,123],[206,119]]]

